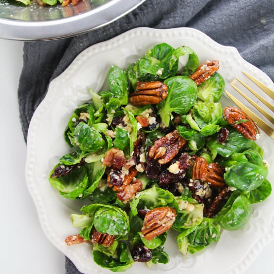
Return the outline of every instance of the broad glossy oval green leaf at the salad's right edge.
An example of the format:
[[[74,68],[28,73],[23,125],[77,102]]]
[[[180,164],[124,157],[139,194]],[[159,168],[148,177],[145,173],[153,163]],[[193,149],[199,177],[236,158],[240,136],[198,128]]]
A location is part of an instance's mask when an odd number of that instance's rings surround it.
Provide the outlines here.
[[[241,162],[228,168],[224,174],[227,185],[240,190],[253,190],[267,177],[268,170],[249,162]]]

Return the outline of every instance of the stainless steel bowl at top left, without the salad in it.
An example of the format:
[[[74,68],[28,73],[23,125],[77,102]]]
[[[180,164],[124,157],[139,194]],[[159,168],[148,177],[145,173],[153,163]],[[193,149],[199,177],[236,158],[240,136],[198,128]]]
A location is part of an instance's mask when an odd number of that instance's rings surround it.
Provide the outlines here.
[[[83,0],[66,7],[0,0],[0,38],[50,40],[102,27],[129,13],[145,0]]]

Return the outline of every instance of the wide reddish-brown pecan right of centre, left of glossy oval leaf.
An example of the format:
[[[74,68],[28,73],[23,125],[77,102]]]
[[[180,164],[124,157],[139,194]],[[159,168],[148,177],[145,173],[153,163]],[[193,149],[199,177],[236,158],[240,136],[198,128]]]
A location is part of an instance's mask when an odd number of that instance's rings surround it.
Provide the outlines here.
[[[192,180],[201,180],[215,187],[224,187],[224,172],[217,163],[206,162],[203,157],[197,157],[192,169]]]

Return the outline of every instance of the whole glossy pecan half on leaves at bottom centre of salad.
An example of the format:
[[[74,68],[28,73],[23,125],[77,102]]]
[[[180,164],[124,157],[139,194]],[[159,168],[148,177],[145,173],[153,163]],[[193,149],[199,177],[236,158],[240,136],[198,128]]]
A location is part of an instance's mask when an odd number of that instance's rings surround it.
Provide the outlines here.
[[[157,207],[144,217],[142,235],[146,240],[151,240],[169,230],[176,219],[176,210],[172,207]]]

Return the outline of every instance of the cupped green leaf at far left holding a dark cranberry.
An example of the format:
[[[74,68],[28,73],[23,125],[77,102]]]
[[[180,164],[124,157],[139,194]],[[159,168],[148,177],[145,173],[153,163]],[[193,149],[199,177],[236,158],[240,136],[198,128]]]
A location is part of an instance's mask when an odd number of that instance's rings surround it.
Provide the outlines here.
[[[57,164],[49,174],[49,182],[59,193],[68,199],[77,199],[83,196],[84,190],[88,186],[87,170],[84,166],[77,166],[70,173],[59,178],[51,178]]]

